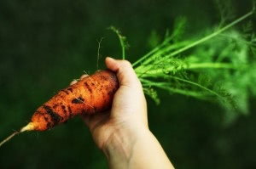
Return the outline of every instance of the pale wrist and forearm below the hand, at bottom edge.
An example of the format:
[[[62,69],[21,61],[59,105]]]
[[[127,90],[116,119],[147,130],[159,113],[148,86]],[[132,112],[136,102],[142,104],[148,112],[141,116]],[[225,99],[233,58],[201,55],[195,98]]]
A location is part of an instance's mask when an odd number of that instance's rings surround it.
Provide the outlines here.
[[[138,130],[137,134],[131,135],[115,132],[113,138],[109,140],[107,149],[104,149],[110,168],[173,168],[159,142],[148,129]]]

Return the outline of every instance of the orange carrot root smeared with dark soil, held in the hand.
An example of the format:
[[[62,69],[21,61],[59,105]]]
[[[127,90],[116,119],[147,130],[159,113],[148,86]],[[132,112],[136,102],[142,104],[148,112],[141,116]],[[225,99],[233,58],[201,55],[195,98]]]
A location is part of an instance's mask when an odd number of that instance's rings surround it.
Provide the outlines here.
[[[44,131],[75,115],[93,115],[109,110],[119,82],[111,70],[98,70],[62,89],[32,115],[33,130]]]

